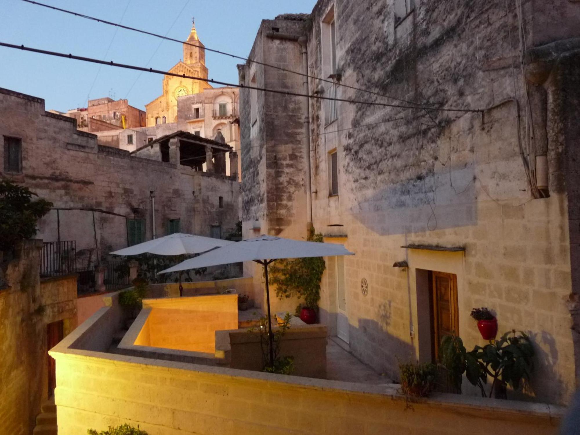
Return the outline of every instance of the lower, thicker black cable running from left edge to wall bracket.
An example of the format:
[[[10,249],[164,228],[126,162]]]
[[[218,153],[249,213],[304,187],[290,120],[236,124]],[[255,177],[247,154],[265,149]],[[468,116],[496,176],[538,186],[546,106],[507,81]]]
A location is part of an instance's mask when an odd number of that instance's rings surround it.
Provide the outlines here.
[[[29,1],[29,0],[26,0],[26,1]],[[193,75],[170,73],[169,71],[154,70],[153,68],[145,68],[145,67],[139,67],[139,66],[134,66],[134,65],[115,63],[112,60],[107,62],[104,60],[93,59],[92,57],[75,56],[75,55],[72,55],[71,53],[69,53],[67,55],[66,53],[51,52],[48,50],[41,50],[38,48],[25,47],[24,45],[8,44],[6,42],[0,42],[0,46],[24,50],[24,51],[33,52],[33,53],[41,53],[42,55],[66,57],[67,59],[82,60],[85,62],[97,63],[97,64],[101,64],[101,65],[126,68],[129,70],[146,71],[148,73],[155,73],[155,74],[162,74],[162,75],[171,75],[173,77],[181,77],[181,78],[187,78],[187,79],[191,79],[191,80],[199,80],[202,82],[211,82],[211,83],[216,84],[216,85],[230,86],[233,88],[242,88],[242,89],[254,89],[254,90],[260,90],[262,92],[277,93],[277,94],[281,94],[281,95],[294,96],[294,97],[309,97],[309,98],[316,99],[316,100],[328,100],[328,101],[336,101],[336,102],[350,103],[350,104],[367,104],[368,106],[397,107],[397,108],[421,109],[421,110],[429,109],[429,110],[437,110],[437,111],[444,111],[444,112],[461,112],[461,113],[473,113],[473,112],[481,113],[481,112],[483,112],[483,110],[481,110],[481,109],[459,109],[459,108],[444,108],[444,107],[443,108],[435,108],[435,107],[423,107],[423,106],[406,106],[404,104],[365,102],[365,101],[361,101],[361,100],[349,100],[349,99],[345,99],[345,98],[332,98],[332,97],[325,97],[325,96],[321,96],[321,95],[307,95],[307,94],[298,93],[298,92],[290,92],[288,90],[260,88],[258,86],[246,86],[246,85],[242,85],[242,84],[234,84],[234,83],[217,81],[217,80],[210,79],[210,78],[194,77]]]

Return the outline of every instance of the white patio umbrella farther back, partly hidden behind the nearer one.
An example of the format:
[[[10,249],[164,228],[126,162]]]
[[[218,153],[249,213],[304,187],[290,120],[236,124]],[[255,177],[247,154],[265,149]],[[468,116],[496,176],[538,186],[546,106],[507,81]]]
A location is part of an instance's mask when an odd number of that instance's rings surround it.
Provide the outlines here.
[[[143,242],[128,248],[119,249],[111,252],[113,255],[141,255],[152,253],[156,255],[184,255],[207,252],[211,249],[224,247],[232,244],[229,240],[219,238],[203,237],[194,234],[175,233],[165,235],[164,237],[154,238],[153,240]],[[183,293],[181,281],[181,272],[179,273],[179,295]]]

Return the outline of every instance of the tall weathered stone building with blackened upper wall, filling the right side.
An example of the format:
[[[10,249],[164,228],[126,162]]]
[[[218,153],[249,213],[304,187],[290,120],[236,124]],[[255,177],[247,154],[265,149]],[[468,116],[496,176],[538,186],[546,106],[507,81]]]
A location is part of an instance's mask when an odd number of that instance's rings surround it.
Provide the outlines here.
[[[449,332],[484,345],[487,306],[534,341],[526,394],[574,392],[579,37],[567,0],[320,0],[262,21],[249,58],[311,77],[249,62],[240,84],[313,97],[241,88],[244,236],[311,223],[356,253],[327,259],[320,320],[376,371],[432,361]]]

